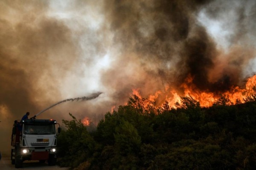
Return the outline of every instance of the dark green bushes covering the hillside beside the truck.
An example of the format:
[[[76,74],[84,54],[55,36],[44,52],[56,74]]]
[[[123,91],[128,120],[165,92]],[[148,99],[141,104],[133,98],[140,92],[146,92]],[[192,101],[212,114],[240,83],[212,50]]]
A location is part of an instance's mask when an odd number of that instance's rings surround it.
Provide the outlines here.
[[[90,132],[70,114],[58,136],[58,164],[75,170],[256,169],[255,96],[229,104],[222,96],[201,108],[183,97],[176,108],[156,108],[133,96]]]

